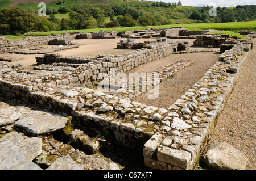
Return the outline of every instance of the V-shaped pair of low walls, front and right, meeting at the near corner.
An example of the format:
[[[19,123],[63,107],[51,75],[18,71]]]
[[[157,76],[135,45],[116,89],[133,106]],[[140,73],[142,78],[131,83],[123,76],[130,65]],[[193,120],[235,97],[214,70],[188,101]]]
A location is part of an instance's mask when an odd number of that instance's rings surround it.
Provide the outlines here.
[[[21,78],[18,73],[2,77],[0,91],[6,96],[72,115],[75,124],[97,128],[119,144],[143,147],[145,165],[152,169],[192,169],[247,54],[242,44],[229,50],[230,55],[234,53],[236,57],[230,64],[217,62],[167,110],[85,87],[43,82],[40,87],[35,81],[39,77],[27,75],[22,82],[18,81]],[[44,75],[40,80],[45,82]]]

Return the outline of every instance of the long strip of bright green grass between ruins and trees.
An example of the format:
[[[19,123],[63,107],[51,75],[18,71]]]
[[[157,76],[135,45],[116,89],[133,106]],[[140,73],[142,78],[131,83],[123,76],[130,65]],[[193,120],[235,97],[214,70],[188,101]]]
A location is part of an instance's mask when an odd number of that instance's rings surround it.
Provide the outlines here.
[[[82,29],[82,30],[67,30],[67,31],[49,31],[49,32],[35,32],[30,33],[32,36],[41,36],[41,35],[52,35],[52,34],[63,34],[71,32],[98,32],[101,29],[104,31],[129,31],[129,30],[144,30],[145,28],[171,28],[171,27],[184,27],[189,30],[207,30],[207,29],[216,29],[216,30],[225,30],[238,32],[243,29],[254,30],[256,31],[256,21],[250,22],[232,22],[232,23],[194,23],[194,24],[169,24],[169,25],[160,25],[160,26],[148,26],[148,27],[118,27],[118,28],[93,28],[93,29]]]

